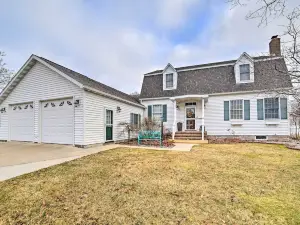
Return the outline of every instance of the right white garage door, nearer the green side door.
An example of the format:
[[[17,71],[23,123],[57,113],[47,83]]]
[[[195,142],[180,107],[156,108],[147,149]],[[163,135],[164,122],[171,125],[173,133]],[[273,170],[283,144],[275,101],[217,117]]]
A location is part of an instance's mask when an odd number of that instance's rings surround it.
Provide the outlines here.
[[[42,102],[42,142],[73,144],[73,100]]]

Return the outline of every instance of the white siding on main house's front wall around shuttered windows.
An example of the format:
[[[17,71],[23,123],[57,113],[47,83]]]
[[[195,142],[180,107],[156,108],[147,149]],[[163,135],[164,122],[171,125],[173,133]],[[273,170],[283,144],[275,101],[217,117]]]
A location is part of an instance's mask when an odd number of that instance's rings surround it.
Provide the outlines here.
[[[231,131],[234,131],[236,135],[289,135],[288,120],[280,120],[278,125],[266,125],[265,120],[257,120],[257,99],[264,97],[262,94],[255,93],[209,96],[204,110],[204,124],[208,135],[231,135]],[[234,99],[250,100],[250,120],[244,120],[241,126],[232,125],[230,121],[224,121],[224,101]],[[183,122],[183,129],[185,129],[185,102],[193,102],[193,100],[177,103],[179,110],[176,111],[176,123]],[[143,100],[142,104],[146,107],[148,105],[167,104],[167,122],[164,124],[168,129],[172,129],[174,108],[170,99]],[[147,115],[146,110],[145,116]],[[200,125],[201,101],[197,101],[196,130],[200,128]],[[229,129],[230,131],[228,131]]]

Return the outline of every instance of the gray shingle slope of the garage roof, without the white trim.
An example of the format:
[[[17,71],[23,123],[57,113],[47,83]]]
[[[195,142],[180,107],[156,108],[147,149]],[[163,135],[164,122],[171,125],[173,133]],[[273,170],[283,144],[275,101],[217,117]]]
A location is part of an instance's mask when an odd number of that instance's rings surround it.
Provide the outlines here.
[[[124,100],[127,100],[127,101],[130,101],[130,102],[133,102],[133,103],[137,103],[137,104],[140,104],[140,102],[134,98],[133,96],[131,95],[128,95],[124,92],[121,92],[115,88],[112,88],[112,87],[109,87],[105,84],[102,84],[98,81],[95,81],[85,75],[82,75],[78,72],[75,72],[71,69],[68,69],[64,66],[61,66],[55,62],[52,62],[48,59],[45,59],[43,57],[40,57],[40,56],[36,56],[38,58],[40,58],[41,60],[45,61],[46,63],[50,64],[51,66],[53,66],[54,68],[56,68],[57,70],[61,71],[62,73],[66,74],[67,76],[71,77],[72,79],[76,80],[77,82],[81,83],[83,86],[85,87],[90,87],[90,88],[94,88],[96,90],[99,90],[99,91],[102,91],[102,92],[105,92],[107,94],[110,94],[110,95],[114,95],[116,97],[119,97],[119,98],[122,98]],[[141,105],[141,104],[140,104]]]

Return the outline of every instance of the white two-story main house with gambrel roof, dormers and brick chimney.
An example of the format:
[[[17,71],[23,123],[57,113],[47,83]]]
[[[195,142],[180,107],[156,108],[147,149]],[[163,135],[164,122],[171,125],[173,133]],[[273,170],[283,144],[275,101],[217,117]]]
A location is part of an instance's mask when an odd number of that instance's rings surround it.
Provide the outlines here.
[[[163,118],[173,139],[282,140],[289,136],[288,100],[275,90],[291,88],[273,36],[268,56],[163,70],[144,75],[140,101],[146,115]],[[182,132],[178,132],[182,124]],[[192,132],[191,132],[192,131]],[[195,132],[198,131],[198,132]]]

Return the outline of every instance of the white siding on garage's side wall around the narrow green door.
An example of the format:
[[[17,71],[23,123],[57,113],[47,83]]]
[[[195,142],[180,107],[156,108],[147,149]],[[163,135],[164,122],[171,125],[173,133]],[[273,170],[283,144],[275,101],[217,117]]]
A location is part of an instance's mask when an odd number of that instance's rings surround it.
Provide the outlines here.
[[[113,100],[88,91],[84,93],[84,144],[104,143],[105,136],[105,110],[113,110],[113,140],[123,140],[127,134],[123,133],[120,122],[130,122],[130,113],[140,114],[143,118],[144,109]],[[117,107],[121,112],[117,112]]]

